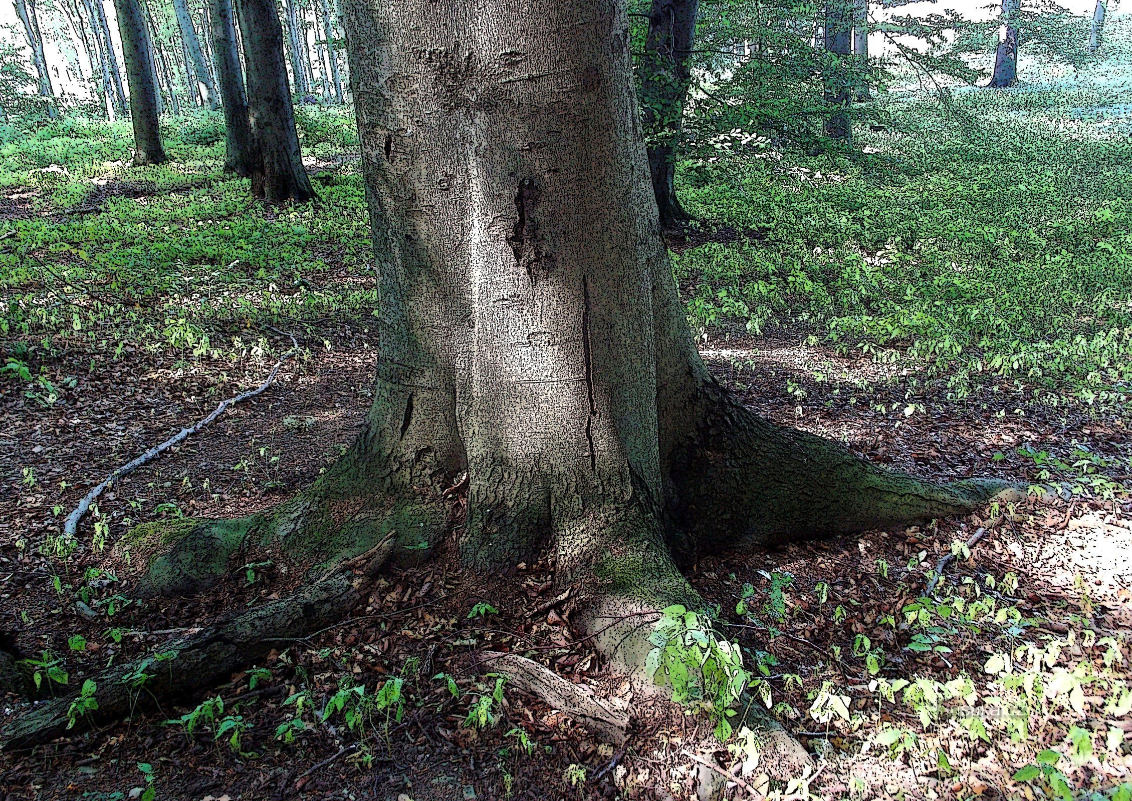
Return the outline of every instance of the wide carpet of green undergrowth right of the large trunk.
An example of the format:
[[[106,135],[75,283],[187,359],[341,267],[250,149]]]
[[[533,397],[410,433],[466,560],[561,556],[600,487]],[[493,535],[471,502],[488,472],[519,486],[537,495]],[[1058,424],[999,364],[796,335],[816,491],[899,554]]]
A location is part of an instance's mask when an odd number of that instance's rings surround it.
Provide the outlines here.
[[[881,102],[884,130],[858,127],[851,156],[737,134],[684,164],[689,210],[737,234],[676,259],[693,325],[711,336],[800,321],[843,353],[926,362],[959,395],[981,374],[1123,398],[1126,88],[1082,79]]]

